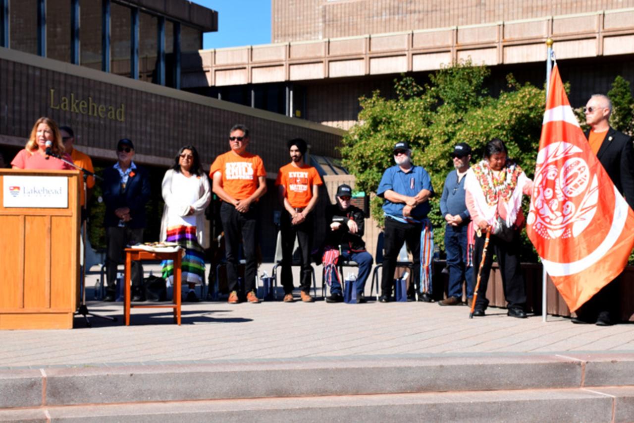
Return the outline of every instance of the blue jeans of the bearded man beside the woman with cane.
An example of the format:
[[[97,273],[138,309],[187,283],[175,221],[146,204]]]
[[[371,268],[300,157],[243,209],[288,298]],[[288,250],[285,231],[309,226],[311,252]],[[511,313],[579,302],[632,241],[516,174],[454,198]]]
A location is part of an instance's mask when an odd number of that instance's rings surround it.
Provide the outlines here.
[[[462,299],[462,281],[467,281],[467,298],[474,296],[474,268],[465,267],[467,262],[467,227],[469,225],[446,225],[444,249],[449,267],[449,288],[447,297]]]

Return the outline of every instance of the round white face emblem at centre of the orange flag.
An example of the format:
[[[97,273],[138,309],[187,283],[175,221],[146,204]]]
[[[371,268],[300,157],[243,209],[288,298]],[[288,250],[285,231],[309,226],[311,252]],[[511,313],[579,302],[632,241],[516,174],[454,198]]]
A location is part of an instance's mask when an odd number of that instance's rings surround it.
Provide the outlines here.
[[[537,155],[533,205],[527,223],[542,238],[570,238],[588,227],[598,203],[597,175],[581,156],[583,151],[560,141],[548,144]],[[553,162],[566,158],[558,168]]]

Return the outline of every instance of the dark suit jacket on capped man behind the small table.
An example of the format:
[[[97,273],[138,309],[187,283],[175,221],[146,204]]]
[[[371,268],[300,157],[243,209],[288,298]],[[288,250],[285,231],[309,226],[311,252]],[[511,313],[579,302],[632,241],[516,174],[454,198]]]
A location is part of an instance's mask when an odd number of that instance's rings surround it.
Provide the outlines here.
[[[136,163],[135,163],[136,164]],[[115,210],[129,207],[132,220],[127,227],[139,229],[145,227],[145,204],[150,199],[150,176],[141,166],[136,166],[134,176],[127,179],[126,189],[121,187],[119,171],[114,167],[103,171],[103,201],[106,204],[104,224],[106,227],[119,225]]]

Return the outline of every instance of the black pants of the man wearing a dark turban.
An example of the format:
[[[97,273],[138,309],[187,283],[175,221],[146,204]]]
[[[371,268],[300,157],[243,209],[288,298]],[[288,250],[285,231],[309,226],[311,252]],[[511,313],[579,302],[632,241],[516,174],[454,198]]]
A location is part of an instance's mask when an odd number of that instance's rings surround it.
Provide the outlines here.
[[[284,293],[293,292],[293,247],[295,236],[299,244],[299,263],[302,267],[300,288],[308,293],[311,290],[311,248],[313,248],[313,213],[310,213],[304,222],[299,225],[290,223],[290,215],[282,211],[281,225],[281,285]]]

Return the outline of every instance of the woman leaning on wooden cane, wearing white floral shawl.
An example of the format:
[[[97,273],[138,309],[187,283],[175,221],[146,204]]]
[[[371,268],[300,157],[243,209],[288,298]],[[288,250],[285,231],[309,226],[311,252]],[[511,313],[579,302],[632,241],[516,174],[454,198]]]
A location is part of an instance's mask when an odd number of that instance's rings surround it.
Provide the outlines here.
[[[476,229],[473,262],[480,264],[479,271],[474,272],[478,286],[472,315],[484,316],[489,304],[486,288],[495,252],[508,303],[507,314],[526,318],[526,286],[519,262],[519,234],[525,222],[521,210],[522,194],[531,194],[533,181],[526,177],[520,166],[508,159],[504,143],[493,138],[484,147],[484,159],[467,171],[465,191],[467,209]],[[485,243],[488,248],[484,248]]]

